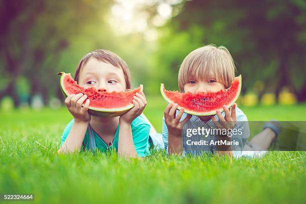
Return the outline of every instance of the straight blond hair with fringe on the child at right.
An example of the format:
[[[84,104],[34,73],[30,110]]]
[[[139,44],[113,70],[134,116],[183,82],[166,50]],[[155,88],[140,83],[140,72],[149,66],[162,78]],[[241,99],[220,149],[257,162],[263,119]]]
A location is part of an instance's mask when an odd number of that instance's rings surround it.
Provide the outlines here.
[[[228,88],[234,79],[235,65],[224,46],[212,44],[191,51],[180,64],[178,71],[178,87],[184,92],[184,85],[190,79],[207,81],[215,78]]]

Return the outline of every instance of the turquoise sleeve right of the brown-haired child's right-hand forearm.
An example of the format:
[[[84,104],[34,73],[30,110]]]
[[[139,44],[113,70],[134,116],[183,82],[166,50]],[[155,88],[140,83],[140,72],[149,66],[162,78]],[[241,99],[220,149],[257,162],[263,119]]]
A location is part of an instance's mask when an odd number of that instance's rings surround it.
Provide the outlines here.
[[[133,143],[137,155],[140,157],[145,157],[150,155],[149,142],[148,142],[149,132],[150,132],[149,124],[140,123],[135,126],[132,126]]]

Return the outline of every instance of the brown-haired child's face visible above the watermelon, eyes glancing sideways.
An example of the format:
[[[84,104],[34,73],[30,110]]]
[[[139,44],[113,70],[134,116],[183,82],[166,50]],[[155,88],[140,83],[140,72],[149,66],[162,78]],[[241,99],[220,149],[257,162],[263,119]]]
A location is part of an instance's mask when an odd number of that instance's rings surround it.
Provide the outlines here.
[[[125,91],[125,79],[121,68],[91,57],[82,67],[78,84],[99,91]]]

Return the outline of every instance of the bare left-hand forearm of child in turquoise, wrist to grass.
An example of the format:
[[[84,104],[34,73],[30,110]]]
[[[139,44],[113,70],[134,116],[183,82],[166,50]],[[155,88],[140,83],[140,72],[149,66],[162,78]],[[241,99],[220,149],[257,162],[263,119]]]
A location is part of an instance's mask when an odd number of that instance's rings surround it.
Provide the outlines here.
[[[82,145],[86,129],[88,127],[87,122],[74,122],[70,129],[70,132],[65,140],[65,142],[58,149],[60,152],[74,152],[75,150],[79,151]]]

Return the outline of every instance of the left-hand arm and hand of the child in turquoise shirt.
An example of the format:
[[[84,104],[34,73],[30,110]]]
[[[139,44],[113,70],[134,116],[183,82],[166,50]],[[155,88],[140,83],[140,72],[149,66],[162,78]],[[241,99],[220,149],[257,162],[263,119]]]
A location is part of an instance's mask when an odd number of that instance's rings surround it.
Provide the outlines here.
[[[58,149],[60,152],[79,151],[82,145],[88,123],[90,121],[90,114],[87,112],[89,106],[89,99],[86,100],[83,107],[82,104],[87,98],[83,93],[71,94],[66,97],[65,105],[69,112],[74,117],[74,123],[69,131],[69,134],[64,143]]]

